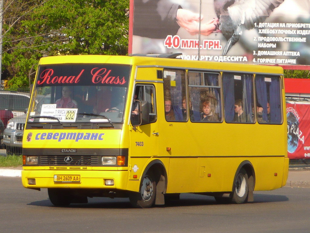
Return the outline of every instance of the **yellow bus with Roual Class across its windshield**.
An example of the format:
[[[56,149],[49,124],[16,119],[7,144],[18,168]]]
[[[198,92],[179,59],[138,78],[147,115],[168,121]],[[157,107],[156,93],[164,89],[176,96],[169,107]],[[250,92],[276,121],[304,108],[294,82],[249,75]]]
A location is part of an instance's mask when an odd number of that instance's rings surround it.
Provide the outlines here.
[[[170,54],[171,57],[173,55]],[[288,176],[283,70],[150,56],[40,60],[23,137],[23,186],[57,206],[180,193],[253,202]]]

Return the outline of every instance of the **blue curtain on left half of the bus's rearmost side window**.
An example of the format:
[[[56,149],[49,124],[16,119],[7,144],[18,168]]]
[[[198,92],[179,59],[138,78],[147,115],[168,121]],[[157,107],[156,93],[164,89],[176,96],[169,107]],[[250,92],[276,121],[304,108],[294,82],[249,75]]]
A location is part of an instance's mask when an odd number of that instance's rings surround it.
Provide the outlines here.
[[[256,86],[256,97],[257,103],[263,107],[263,120],[268,121],[267,115],[267,87],[264,80],[264,77],[261,75],[256,75],[255,77],[255,86]]]

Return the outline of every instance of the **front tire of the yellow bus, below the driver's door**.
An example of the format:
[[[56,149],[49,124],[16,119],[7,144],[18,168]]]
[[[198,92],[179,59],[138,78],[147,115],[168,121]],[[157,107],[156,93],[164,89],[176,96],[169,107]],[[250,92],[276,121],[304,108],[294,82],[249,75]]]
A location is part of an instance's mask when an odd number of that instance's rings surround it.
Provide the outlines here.
[[[155,176],[148,171],[141,180],[140,192],[131,192],[129,200],[135,208],[150,208],[155,201],[156,182]]]

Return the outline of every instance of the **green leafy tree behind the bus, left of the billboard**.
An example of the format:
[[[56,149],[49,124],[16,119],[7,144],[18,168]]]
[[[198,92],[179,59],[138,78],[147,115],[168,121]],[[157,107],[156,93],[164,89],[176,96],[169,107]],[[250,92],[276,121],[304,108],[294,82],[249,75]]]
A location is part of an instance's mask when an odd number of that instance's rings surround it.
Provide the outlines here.
[[[128,51],[128,0],[10,0],[4,9],[2,64],[12,88],[29,86],[42,56]]]

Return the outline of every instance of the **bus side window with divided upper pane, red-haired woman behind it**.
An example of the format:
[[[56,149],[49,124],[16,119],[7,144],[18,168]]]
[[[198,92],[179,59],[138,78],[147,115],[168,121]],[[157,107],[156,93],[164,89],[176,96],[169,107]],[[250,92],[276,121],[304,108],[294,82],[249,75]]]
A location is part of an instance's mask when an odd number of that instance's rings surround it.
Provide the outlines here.
[[[219,73],[188,71],[191,121],[222,121],[219,77]]]

